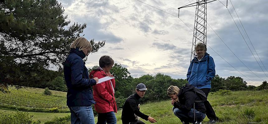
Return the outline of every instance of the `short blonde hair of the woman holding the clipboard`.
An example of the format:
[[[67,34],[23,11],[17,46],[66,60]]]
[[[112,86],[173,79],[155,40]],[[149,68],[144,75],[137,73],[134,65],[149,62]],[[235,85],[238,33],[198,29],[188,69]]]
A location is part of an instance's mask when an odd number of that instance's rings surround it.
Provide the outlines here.
[[[79,38],[75,39],[74,43],[71,45],[70,49],[71,48],[79,48],[79,51],[84,50],[84,49],[89,49],[90,52],[92,51],[91,43],[83,37],[79,37]]]

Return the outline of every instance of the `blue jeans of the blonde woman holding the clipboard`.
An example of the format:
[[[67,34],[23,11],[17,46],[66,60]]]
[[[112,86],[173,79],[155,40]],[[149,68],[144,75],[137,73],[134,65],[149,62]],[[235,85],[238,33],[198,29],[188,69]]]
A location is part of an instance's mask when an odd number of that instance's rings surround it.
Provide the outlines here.
[[[95,124],[91,106],[69,107],[71,111],[71,124]]]

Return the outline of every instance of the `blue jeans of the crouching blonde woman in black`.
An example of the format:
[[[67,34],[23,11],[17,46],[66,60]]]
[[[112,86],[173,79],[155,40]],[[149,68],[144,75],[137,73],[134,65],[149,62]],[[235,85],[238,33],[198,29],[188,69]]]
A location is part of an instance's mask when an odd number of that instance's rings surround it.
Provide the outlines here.
[[[184,112],[180,110],[179,108],[172,108],[173,113],[179,117],[181,122],[189,122],[189,123],[195,123],[194,121],[194,108],[191,108],[189,112]],[[206,117],[206,114],[201,113],[197,110],[195,110],[195,119],[197,122],[202,122],[203,119]]]

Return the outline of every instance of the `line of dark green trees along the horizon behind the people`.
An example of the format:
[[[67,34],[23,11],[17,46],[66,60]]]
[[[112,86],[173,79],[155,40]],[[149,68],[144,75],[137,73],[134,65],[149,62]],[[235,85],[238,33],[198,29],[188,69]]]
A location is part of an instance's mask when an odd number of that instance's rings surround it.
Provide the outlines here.
[[[91,69],[89,68],[89,72]],[[116,78],[115,97],[117,98],[118,108],[122,108],[125,99],[135,93],[136,85],[144,83],[148,88],[145,97],[142,102],[147,101],[161,101],[169,99],[166,94],[166,90],[170,85],[181,87],[187,82],[186,79],[172,79],[171,76],[164,75],[161,73],[153,75],[143,75],[139,78],[133,78],[127,68],[122,67],[121,64],[115,64],[111,71],[112,75]],[[55,78],[49,82],[41,82],[34,87],[46,88],[49,90],[67,91],[65,80],[63,75]],[[211,91],[216,92],[218,90],[262,90],[268,89],[267,81],[264,81],[260,86],[247,85],[241,77],[229,76],[222,78],[216,75],[211,81]]]

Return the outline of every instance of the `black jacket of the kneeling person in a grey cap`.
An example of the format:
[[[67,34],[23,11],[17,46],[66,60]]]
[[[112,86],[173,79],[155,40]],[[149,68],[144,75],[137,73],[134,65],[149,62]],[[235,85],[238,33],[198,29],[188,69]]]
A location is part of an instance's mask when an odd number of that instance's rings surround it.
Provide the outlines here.
[[[130,95],[124,105],[123,105],[123,110],[122,110],[122,116],[121,116],[121,119],[122,119],[122,122],[123,124],[128,124],[129,122],[136,122],[137,120],[135,120],[135,116],[134,116],[134,113],[141,117],[142,119],[144,120],[148,120],[148,117],[147,115],[143,114],[140,112],[140,109],[138,108],[138,105],[140,104],[140,99],[141,97],[135,93],[135,94],[132,94]]]

